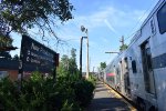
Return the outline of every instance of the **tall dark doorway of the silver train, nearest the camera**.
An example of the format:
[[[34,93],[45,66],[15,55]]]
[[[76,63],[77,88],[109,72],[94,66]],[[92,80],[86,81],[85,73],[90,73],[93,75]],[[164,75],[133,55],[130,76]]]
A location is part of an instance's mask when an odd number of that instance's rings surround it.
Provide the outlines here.
[[[147,93],[155,94],[155,80],[152,67],[152,53],[149,41],[147,40],[141,46],[143,59],[143,72],[145,81],[145,90]]]

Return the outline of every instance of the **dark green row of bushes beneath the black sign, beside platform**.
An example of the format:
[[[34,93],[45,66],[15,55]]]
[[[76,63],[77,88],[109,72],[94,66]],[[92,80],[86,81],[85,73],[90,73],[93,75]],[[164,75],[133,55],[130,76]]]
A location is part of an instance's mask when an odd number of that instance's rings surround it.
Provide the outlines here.
[[[0,80],[0,110],[8,111],[81,111],[93,99],[94,84],[76,74],[43,78],[34,72],[30,79]]]

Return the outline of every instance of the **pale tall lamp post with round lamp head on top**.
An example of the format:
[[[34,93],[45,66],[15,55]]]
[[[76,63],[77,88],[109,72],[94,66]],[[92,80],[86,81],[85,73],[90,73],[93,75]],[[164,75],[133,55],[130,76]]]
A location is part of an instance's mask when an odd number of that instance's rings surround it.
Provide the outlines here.
[[[87,29],[84,26],[81,26],[81,31],[86,33],[87,38],[87,54],[86,54],[86,79],[89,79],[89,33]]]

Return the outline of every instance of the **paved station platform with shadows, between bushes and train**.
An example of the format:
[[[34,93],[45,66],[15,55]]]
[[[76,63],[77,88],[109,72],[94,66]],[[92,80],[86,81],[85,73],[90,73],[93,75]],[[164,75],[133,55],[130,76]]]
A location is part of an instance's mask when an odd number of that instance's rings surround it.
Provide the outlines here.
[[[94,99],[86,111],[136,111],[113,89],[103,82],[96,83]]]

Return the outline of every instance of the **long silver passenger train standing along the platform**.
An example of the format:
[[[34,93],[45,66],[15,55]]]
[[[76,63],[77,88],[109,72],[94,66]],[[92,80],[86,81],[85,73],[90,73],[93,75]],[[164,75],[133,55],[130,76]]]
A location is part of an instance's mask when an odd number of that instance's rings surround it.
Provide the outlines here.
[[[166,0],[157,2],[101,79],[143,111],[166,111]]]

